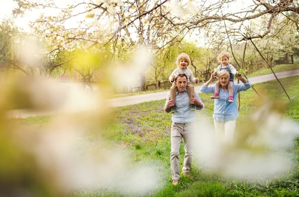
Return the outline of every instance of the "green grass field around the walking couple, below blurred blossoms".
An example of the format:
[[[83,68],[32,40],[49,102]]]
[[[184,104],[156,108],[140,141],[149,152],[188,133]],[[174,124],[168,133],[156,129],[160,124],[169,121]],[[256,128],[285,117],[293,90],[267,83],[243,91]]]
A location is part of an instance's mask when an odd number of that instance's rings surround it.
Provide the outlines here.
[[[263,97],[259,98],[250,89],[241,92],[240,116],[237,120],[236,130],[241,130],[248,116],[252,114],[262,103],[264,98],[269,100],[280,100],[283,103],[275,110],[282,110],[284,114],[299,122],[299,77],[282,79],[281,82],[286,88],[291,101],[288,100],[278,82],[255,85],[255,89]],[[196,118],[200,120],[208,117],[212,122],[213,100],[209,99],[210,94],[200,94],[200,98],[205,103],[205,110],[197,111]],[[162,188],[153,191],[146,196],[153,197],[194,197],[194,196],[299,196],[299,138],[294,140],[294,145],[288,148],[288,154],[295,155],[296,166],[290,172],[286,172],[280,177],[272,180],[259,180],[249,182],[246,179],[232,179],[221,173],[207,173],[202,171],[202,166],[193,162],[190,177],[181,177],[178,186],[171,185],[170,175],[170,124],[171,115],[162,109],[165,100],[150,101],[141,104],[119,107],[115,116],[111,119],[106,129],[105,137],[111,146],[126,149],[131,152],[130,160],[135,164],[145,161],[157,161],[159,173],[163,175],[165,181]],[[22,125],[43,124],[47,117],[31,117],[16,122]],[[180,146],[180,169],[183,161],[183,143]],[[125,196],[118,192],[108,191],[82,191],[71,196],[90,197]]]

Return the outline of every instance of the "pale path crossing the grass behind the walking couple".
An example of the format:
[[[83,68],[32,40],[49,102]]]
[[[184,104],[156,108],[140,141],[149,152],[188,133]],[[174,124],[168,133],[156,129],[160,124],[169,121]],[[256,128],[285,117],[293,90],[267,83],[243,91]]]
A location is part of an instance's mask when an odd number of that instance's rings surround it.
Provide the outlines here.
[[[299,69],[292,70],[292,71],[285,71],[276,73],[278,78],[286,78],[299,75]],[[257,84],[262,82],[267,82],[275,80],[275,76],[273,74],[262,75],[257,77],[249,78],[251,84]],[[195,86],[195,91],[200,93],[201,86]],[[129,96],[129,97],[121,97],[121,98],[111,98],[108,99],[108,103],[110,106],[118,107],[118,106],[126,106],[131,104],[138,104],[141,102],[147,102],[151,100],[160,100],[165,99],[168,91],[158,92],[158,93],[150,93],[150,94],[143,94],[143,95],[136,95],[136,96]],[[17,118],[26,118],[30,116],[40,116],[40,115],[49,115],[53,114],[55,111],[28,111],[28,110],[11,110],[7,112],[8,117],[17,117]]]

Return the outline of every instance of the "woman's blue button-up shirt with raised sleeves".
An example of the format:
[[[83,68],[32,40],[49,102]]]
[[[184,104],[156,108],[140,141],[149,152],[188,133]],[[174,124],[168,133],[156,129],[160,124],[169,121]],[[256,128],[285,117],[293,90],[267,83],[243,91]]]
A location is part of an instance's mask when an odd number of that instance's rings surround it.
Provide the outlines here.
[[[251,88],[251,84],[248,81],[246,84],[234,84],[234,102],[228,101],[228,90],[224,91],[221,87],[219,90],[219,98],[214,99],[214,114],[213,118],[219,122],[226,122],[237,119],[239,116],[237,108],[237,95],[240,91],[246,91]],[[200,92],[202,93],[215,93],[214,86],[201,86]]]

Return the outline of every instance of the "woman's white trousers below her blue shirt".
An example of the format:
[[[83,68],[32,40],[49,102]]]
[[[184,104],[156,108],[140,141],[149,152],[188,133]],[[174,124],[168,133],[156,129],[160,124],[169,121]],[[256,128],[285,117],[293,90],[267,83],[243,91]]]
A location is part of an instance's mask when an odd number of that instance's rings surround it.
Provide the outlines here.
[[[232,142],[236,128],[236,120],[218,122],[214,119],[216,138],[220,142]]]

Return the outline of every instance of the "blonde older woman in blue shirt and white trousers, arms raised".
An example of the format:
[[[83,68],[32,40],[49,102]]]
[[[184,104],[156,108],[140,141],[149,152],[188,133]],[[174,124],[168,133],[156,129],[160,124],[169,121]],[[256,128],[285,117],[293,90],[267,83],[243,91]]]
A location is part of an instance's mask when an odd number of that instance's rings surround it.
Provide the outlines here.
[[[233,140],[233,135],[236,127],[236,119],[239,116],[237,102],[228,102],[228,82],[230,79],[229,73],[226,70],[222,70],[218,73],[218,80],[220,82],[219,99],[214,100],[214,126],[216,130],[216,137],[218,140],[224,140],[230,142]],[[202,93],[215,93],[215,86],[209,86],[209,84],[215,79],[214,75],[211,75],[209,81],[204,83],[201,87]],[[243,84],[233,85],[233,98],[236,100],[238,92],[246,91],[251,88],[249,81],[244,79],[242,75],[237,77]]]

